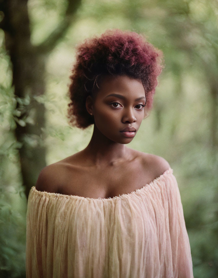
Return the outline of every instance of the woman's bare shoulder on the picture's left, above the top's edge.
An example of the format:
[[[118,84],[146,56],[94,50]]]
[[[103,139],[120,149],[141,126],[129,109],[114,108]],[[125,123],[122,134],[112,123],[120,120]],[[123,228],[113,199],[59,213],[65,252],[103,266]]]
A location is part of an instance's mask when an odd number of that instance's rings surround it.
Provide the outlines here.
[[[44,167],[37,179],[36,189],[38,191],[58,192],[63,182],[64,168],[62,163],[57,162]]]

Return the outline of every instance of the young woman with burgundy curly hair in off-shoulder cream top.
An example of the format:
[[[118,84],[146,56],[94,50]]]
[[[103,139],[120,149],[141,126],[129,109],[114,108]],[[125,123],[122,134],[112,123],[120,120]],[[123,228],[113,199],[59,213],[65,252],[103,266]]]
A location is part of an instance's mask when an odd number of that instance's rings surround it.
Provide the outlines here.
[[[117,29],[78,47],[68,114],[94,131],[30,191],[27,277],[193,277],[172,169],[126,146],[152,106],[161,54]]]

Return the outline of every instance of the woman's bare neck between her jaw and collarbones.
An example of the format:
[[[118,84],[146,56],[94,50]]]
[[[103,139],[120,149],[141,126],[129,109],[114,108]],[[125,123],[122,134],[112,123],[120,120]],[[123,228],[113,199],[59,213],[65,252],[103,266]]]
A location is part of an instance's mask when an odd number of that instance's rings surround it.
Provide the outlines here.
[[[95,165],[101,166],[114,165],[128,157],[128,148],[124,144],[109,140],[95,126],[91,141],[85,151]]]

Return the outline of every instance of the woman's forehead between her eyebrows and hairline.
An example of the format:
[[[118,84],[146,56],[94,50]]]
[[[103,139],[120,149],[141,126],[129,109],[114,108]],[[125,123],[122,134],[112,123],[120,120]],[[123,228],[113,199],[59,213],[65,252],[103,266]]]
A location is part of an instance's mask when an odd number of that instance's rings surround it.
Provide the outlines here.
[[[142,82],[126,75],[105,76],[102,79],[96,97],[104,98],[111,93],[121,94],[128,98],[139,98],[145,96],[145,90]]]

